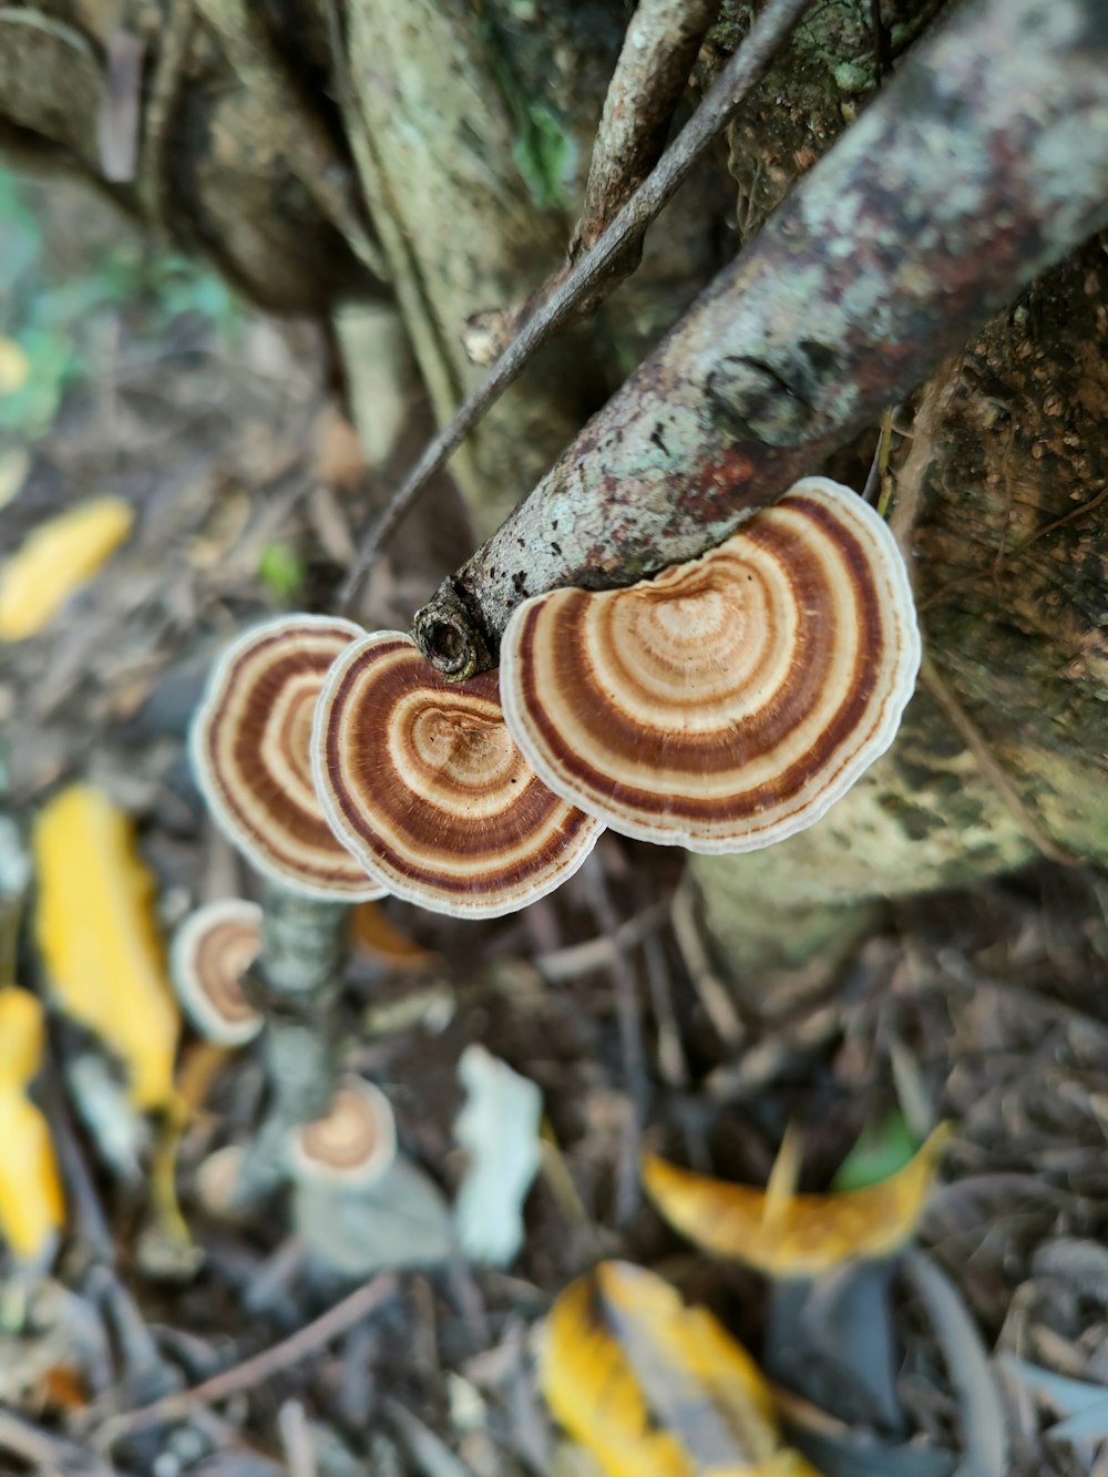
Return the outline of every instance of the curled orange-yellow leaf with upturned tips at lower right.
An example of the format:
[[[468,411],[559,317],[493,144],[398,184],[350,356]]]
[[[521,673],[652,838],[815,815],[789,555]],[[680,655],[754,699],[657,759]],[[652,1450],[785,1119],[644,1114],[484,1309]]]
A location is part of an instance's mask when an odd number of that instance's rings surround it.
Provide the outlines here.
[[[669,1224],[706,1251],[770,1276],[814,1278],[844,1261],[885,1257],[912,1238],[948,1137],[948,1125],[935,1128],[904,1168],[879,1185],[784,1202],[774,1196],[770,1204],[767,1190],[693,1174],[652,1154],[643,1161],[643,1183]]]

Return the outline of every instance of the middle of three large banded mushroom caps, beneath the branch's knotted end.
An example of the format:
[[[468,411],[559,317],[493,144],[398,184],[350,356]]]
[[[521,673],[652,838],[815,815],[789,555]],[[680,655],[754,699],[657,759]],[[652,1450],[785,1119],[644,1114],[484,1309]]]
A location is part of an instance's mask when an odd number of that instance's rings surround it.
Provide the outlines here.
[[[603,830],[519,752],[495,672],[448,682],[399,631],[332,666],[312,762],[334,833],[389,892],[436,913],[513,913],[576,871]]]

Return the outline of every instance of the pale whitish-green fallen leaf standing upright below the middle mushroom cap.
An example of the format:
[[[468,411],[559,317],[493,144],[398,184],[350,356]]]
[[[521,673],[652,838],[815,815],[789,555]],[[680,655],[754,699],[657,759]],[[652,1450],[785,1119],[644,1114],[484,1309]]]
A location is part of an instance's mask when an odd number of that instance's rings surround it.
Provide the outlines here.
[[[454,1217],[462,1251],[505,1266],[523,1245],[523,1201],[542,1158],[542,1093],[483,1046],[458,1062],[467,1102],[454,1137],[470,1156]]]

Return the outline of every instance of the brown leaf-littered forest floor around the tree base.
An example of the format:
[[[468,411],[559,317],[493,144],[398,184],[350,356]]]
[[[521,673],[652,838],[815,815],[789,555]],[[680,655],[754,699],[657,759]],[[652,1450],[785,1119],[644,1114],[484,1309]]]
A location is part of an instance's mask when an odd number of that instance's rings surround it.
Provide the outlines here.
[[[0,809],[27,827],[61,786],[102,786],[137,821],[168,933],[196,901],[256,886],[185,756],[211,657],[264,613],[325,609],[427,412],[412,403],[394,464],[368,474],[313,326],[236,306],[68,186],[3,183],[0,334],[28,346],[31,383],[0,399],[0,555],[86,496],[123,496],[136,526],[41,635],[0,647]],[[377,567],[365,623],[405,628],[468,538],[440,483]],[[607,898],[579,874],[498,922],[396,901],[366,922],[343,1058],[387,1092],[405,1155],[452,1198],[456,1066],[474,1041],[541,1089],[545,1127],[508,1267],[454,1255],[393,1278],[405,1233],[386,1208],[384,1270],[337,1323],[313,1320],[365,1279],[328,1266],[284,1211],[226,1221],[198,1192],[201,1162],[250,1131],[256,1055],[223,1059],[192,1103],[176,1152],[192,1254],[174,1260],[158,1255],[154,1179],[118,1156],[112,1170],[112,1124],[87,1105],[78,1118],[58,1086],[86,1047],[52,1018],[69,1220],[49,1276],[19,1297],[0,1251],[0,1473],[584,1473],[544,1411],[533,1349],[551,1300],[600,1257],[659,1272],[792,1381],[790,1431],[821,1471],[1108,1473],[1105,879],[1043,863],[897,907],[832,988],[771,1018],[734,1006],[721,1031],[680,857],[613,836],[597,854]],[[30,926],[19,981],[49,995]],[[198,1049],[188,1035],[182,1069]],[[638,1183],[646,1142],[764,1185],[795,1123],[818,1188],[897,1106],[954,1130],[913,1252],[938,1294],[909,1258],[854,1278],[849,1297],[793,1289],[798,1322],[787,1285],[693,1250]],[[792,1365],[782,1326],[807,1340]],[[259,1354],[233,1393],[134,1419]],[[1047,1434],[1078,1411],[1071,1440]]]

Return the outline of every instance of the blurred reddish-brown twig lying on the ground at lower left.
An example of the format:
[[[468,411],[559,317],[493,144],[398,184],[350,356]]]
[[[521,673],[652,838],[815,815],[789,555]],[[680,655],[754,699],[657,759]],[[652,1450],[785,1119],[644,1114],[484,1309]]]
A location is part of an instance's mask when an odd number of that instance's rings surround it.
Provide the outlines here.
[[[363,1317],[387,1303],[394,1292],[396,1278],[393,1276],[380,1276],[374,1278],[372,1282],[362,1284],[326,1313],[321,1313],[319,1317],[298,1328],[288,1338],[263,1349],[260,1354],[244,1359],[242,1363],[213,1375],[211,1380],[204,1380],[192,1390],[182,1390],[155,1400],[152,1405],[143,1405],[137,1411],[126,1411],[123,1415],[111,1416],[96,1433],[96,1445],[109,1447],[131,1431],[180,1419],[198,1405],[214,1405],[217,1400],[226,1400],[242,1390],[254,1390],[282,1369],[300,1363],[301,1359],[353,1328],[355,1323],[360,1323]]]

